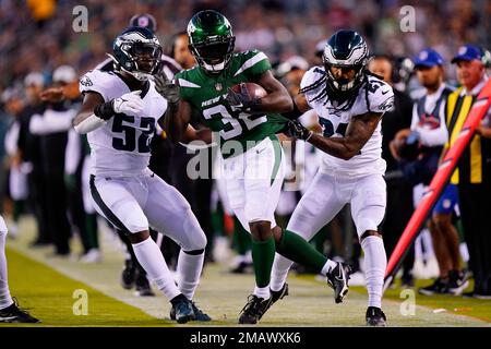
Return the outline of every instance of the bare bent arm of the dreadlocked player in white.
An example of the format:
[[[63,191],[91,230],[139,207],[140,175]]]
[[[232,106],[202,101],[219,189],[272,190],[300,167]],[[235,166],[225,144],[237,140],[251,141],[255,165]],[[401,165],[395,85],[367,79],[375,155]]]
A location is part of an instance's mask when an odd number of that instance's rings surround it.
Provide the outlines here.
[[[348,123],[344,137],[324,137],[320,134],[312,134],[309,143],[332,156],[349,160],[355,155],[361,154],[361,148],[372,136],[381,118],[381,112],[356,116]]]

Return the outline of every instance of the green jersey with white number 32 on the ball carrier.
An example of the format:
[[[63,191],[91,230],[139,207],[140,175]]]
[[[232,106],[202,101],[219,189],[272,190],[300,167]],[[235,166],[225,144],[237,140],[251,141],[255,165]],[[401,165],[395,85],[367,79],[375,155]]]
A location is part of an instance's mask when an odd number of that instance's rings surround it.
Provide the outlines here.
[[[239,118],[233,118],[226,99],[228,87],[254,82],[270,69],[271,63],[266,55],[250,50],[233,53],[227,68],[219,74],[206,73],[203,68],[196,65],[176,75],[181,86],[181,98],[191,104],[193,115],[213,132],[219,133],[220,149],[225,158],[237,155],[228,154],[228,147],[224,148],[227,142],[239,142],[240,151],[246,152],[284,128],[287,119],[279,113],[242,113]]]

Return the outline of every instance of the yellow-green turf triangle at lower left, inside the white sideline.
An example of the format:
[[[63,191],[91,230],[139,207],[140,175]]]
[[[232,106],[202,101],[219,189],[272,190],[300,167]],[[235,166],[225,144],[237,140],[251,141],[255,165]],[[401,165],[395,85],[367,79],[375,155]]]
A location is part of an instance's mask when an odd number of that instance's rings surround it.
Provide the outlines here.
[[[73,280],[19,252],[8,250],[9,281],[21,308],[43,326],[157,326],[161,322],[86,284]],[[75,315],[75,290],[87,292],[87,315]],[[0,326],[22,324],[1,324]],[[25,326],[25,325],[24,325]],[[37,326],[37,324],[36,324]]]

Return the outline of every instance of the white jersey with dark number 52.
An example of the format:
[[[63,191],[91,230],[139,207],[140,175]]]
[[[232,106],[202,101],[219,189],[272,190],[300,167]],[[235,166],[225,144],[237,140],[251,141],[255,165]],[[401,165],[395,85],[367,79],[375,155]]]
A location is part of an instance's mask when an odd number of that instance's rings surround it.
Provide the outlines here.
[[[140,95],[145,104],[139,115],[115,115],[106,124],[87,134],[91,145],[92,173],[107,177],[131,177],[148,166],[151,141],[157,120],[167,109],[167,100],[153,81]],[[128,85],[111,71],[93,70],[82,76],[80,91],[96,92],[104,101],[130,93]]]

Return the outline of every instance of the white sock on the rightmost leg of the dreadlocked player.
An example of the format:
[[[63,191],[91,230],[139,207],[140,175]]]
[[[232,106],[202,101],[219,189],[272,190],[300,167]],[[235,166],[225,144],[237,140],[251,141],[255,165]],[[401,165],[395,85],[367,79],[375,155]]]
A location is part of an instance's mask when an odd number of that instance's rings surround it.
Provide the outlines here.
[[[369,293],[369,306],[382,308],[382,292],[384,287],[387,256],[384,242],[380,237],[367,237],[361,241],[364,252],[364,277]]]

